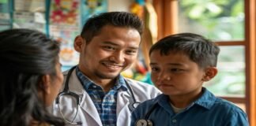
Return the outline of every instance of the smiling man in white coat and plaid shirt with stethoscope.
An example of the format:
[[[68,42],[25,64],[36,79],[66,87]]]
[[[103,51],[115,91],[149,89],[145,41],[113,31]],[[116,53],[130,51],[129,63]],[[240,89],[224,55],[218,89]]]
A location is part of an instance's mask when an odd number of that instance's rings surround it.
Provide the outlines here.
[[[101,13],[88,19],[74,40],[79,64],[64,72],[66,86],[53,113],[67,124],[129,125],[137,104],[160,94],[149,84],[120,75],[137,59],[142,29],[132,13]]]

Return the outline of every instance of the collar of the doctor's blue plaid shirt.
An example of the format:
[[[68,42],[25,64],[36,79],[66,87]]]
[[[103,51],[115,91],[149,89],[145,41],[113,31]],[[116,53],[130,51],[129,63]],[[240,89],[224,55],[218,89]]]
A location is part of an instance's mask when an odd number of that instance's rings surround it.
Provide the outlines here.
[[[78,79],[81,81],[85,90],[88,90],[89,88],[91,88],[93,86],[98,86],[92,80],[88,79],[88,77],[85,76],[81,72],[81,70],[78,68],[78,66],[76,68],[76,73],[77,73]],[[126,80],[120,74],[119,74],[119,76],[116,77],[115,86],[113,87],[113,89],[114,90],[120,90],[121,89],[123,91],[127,91]]]

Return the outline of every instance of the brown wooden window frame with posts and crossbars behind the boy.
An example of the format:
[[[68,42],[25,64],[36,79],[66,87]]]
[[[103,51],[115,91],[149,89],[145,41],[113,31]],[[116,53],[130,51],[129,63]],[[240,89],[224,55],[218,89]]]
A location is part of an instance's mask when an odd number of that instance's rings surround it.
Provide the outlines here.
[[[178,31],[178,1],[152,0],[158,21],[158,37],[175,34]],[[246,63],[245,98],[221,97],[235,103],[246,105],[250,126],[256,126],[256,2],[244,0],[245,39],[243,41],[216,42],[220,46],[244,46]]]

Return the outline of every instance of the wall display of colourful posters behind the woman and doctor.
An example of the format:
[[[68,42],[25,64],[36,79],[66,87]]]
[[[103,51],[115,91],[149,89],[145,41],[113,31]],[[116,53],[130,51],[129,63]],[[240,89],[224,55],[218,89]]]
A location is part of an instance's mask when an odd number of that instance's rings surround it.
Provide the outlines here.
[[[62,70],[77,65],[73,40],[85,21],[107,12],[107,0],[0,0],[0,31],[30,28],[42,31],[61,43]]]

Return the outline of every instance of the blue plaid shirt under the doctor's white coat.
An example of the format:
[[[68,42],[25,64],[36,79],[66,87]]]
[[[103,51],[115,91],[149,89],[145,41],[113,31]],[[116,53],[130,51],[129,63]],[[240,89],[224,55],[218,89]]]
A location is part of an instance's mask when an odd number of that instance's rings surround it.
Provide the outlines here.
[[[116,98],[118,91],[127,91],[125,80],[122,76],[118,76],[115,81],[115,86],[107,93],[102,87],[89,80],[77,67],[78,79],[83,84],[85,91],[88,93],[92,102],[100,115],[100,120],[104,126],[116,125]]]

